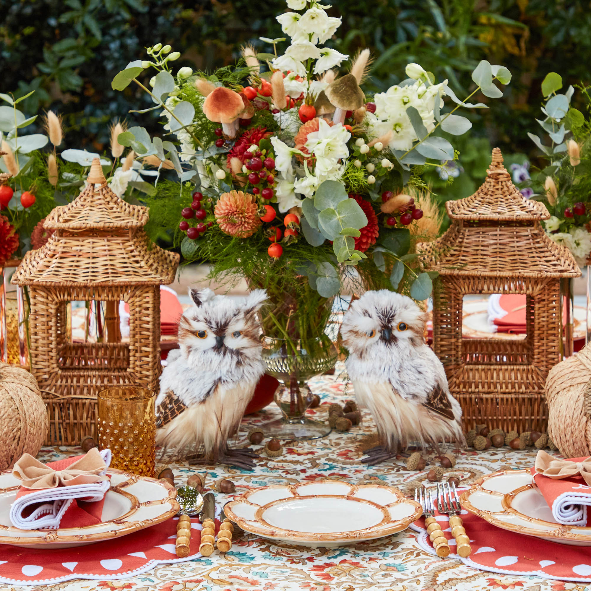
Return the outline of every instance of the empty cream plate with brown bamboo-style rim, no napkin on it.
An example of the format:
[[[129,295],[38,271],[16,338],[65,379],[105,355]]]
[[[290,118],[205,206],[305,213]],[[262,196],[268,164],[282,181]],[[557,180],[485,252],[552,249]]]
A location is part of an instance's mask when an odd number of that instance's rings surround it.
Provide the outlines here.
[[[252,489],[224,512],[263,538],[333,548],[402,531],[421,516],[421,506],[389,486],[321,480]]]

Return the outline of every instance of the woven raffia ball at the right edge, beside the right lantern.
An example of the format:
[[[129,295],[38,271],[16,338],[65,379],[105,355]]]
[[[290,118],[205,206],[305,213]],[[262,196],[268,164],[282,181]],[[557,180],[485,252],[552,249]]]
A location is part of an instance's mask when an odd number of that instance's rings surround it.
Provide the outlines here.
[[[548,374],[548,447],[564,457],[591,455],[591,345],[555,365]]]

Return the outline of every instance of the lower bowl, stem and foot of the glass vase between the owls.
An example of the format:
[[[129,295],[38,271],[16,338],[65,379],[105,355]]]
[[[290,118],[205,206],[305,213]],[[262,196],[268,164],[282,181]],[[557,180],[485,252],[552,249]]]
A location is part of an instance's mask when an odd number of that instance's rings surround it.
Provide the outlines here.
[[[267,437],[282,440],[317,439],[330,433],[330,426],[306,417],[312,402],[307,381],[335,366],[337,350],[333,343],[320,339],[308,342],[309,350],[299,342],[264,337],[262,359],[267,374],[280,381],[274,400],[282,418],[261,426]]]

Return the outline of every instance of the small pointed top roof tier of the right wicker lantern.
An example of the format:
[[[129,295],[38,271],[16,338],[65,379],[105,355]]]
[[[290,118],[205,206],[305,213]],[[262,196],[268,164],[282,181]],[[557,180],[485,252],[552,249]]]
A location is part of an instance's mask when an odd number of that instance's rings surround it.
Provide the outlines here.
[[[492,151],[492,161],[482,186],[470,197],[448,201],[447,214],[460,220],[527,221],[547,220],[550,213],[543,203],[525,199],[511,182],[503,166],[499,148]]]

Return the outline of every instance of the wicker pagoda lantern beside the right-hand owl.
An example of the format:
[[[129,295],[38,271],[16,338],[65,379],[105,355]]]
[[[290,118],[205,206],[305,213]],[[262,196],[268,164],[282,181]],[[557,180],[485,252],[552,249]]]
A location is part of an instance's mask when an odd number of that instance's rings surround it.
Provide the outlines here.
[[[570,251],[548,238],[543,203],[527,200],[511,182],[501,151],[492,152],[484,184],[471,197],[448,201],[452,225],[419,246],[425,266],[438,271],[433,292],[433,347],[466,430],[476,424],[505,431],[545,431],[543,392],[561,361],[561,296],[581,272]],[[522,339],[462,336],[463,297],[524,294]]]

